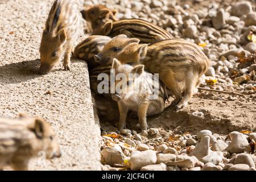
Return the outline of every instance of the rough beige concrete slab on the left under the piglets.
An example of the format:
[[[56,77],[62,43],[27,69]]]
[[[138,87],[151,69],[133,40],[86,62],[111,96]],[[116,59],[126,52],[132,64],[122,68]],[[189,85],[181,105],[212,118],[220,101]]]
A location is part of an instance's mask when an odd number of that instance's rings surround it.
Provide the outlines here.
[[[32,160],[31,170],[98,170],[100,127],[93,118],[86,63],[72,60],[71,72],[63,71],[61,63],[48,75],[37,74],[40,39],[52,3],[0,1],[0,115],[37,115],[55,129],[63,156],[46,163],[43,156]]]

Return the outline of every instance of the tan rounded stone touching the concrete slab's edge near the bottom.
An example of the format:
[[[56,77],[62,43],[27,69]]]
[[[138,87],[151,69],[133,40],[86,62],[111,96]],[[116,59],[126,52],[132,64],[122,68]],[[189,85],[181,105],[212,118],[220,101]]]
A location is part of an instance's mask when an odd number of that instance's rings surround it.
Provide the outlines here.
[[[114,164],[123,164],[125,155],[120,148],[107,147],[101,151],[101,162],[102,164],[108,164],[114,166]]]

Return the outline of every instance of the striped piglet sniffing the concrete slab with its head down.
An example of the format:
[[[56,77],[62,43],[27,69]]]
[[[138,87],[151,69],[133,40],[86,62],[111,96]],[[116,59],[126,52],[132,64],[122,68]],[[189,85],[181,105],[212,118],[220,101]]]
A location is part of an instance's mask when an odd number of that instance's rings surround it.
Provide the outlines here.
[[[74,0],[56,0],[49,12],[40,45],[39,72],[49,73],[64,56],[64,69],[70,71],[70,57],[79,32],[80,13]]]

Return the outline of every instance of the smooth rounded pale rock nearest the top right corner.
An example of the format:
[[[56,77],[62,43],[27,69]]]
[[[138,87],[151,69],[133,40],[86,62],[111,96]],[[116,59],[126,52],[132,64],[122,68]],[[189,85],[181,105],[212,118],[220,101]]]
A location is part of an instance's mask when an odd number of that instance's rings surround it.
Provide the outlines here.
[[[251,3],[247,1],[238,2],[232,6],[231,14],[233,16],[242,16],[251,13],[253,8],[251,7]]]

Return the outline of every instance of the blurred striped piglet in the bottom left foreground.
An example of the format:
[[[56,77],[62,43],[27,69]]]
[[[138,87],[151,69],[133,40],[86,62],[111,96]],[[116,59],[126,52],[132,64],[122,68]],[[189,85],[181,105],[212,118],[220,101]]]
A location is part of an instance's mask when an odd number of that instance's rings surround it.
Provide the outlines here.
[[[28,162],[45,152],[46,159],[60,156],[59,144],[49,123],[42,118],[0,118],[0,170],[28,170]]]

